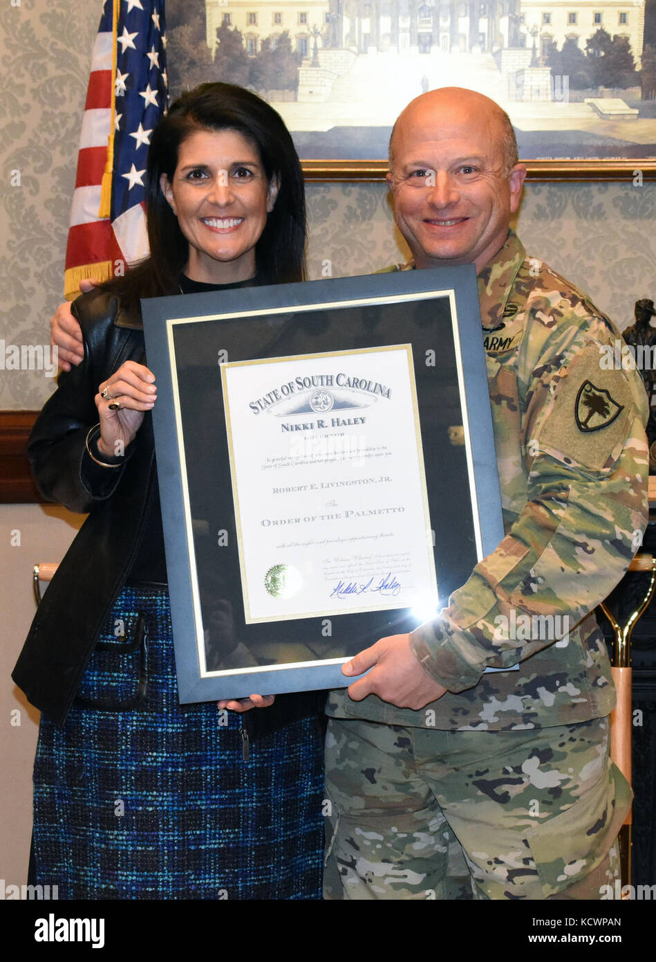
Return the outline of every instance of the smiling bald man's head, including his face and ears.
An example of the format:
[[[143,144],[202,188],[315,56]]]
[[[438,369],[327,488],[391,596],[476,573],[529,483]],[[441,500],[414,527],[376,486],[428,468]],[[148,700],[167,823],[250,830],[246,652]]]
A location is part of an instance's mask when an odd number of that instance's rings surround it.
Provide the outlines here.
[[[387,182],[415,265],[490,263],[519,210],[526,168],[510,120],[474,90],[431,90],[408,104],[392,136]]]

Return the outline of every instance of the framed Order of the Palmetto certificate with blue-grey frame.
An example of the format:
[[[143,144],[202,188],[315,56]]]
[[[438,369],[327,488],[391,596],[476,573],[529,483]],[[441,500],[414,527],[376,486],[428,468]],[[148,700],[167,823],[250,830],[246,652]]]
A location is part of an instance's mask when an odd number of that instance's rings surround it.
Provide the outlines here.
[[[182,702],[347,684],[503,537],[473,266],[142,312]]]

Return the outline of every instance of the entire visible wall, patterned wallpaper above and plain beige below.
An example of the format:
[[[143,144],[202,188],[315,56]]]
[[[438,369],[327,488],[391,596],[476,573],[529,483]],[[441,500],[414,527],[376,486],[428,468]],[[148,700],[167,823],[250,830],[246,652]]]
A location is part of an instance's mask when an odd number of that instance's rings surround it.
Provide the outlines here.
[[[0,8],[0,340],[45,344],[61,300],[80,118],[100,3],[22,0]],[[11,171],[20,170],[20,187]],[[366,273],[406,256],[379,184],[310,185],[311,277]],[[530,184],[519,230],[530,253],[586,291],[620,328],[638,297],[656,298],[656,184]],[[53,390],[40,371],[0,370],[0,409],[33,409]],[[0,506],[0,877],[20,883],[30,837],[36,713],[10,678],[34,614],[31,570],[57,560],[80,519],[61,509]],[[21,544],[12,546],[12,531]],[[15,540],[15,537],[14,537]],[[19,709],[20,725],[12,725]],[[16,716],[13,716],[15,721]]]

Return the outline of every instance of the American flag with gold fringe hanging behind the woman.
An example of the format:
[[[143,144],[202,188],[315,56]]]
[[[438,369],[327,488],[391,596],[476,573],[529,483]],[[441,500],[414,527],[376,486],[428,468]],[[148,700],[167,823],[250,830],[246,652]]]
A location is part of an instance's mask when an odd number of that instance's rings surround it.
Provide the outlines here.
[[[91,55],[64,289],[148,254],[143,177],[166,107],[164,0],[105,0]]]

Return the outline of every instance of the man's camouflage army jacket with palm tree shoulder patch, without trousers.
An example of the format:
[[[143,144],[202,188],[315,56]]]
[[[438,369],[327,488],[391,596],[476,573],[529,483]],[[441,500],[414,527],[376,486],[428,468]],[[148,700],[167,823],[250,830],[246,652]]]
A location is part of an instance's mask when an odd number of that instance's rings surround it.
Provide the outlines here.
[[[502,730],[585,722],[614,707],[594,610],[646,524],[642,378],[611,366],[620,355],[611,321],[527,258],[512,231],[478,275],[478,296],[505,537],[410,636],[447,694],[412,711],[335,690],[333,717]],[[518,661],[519,671],[482,673]]]

